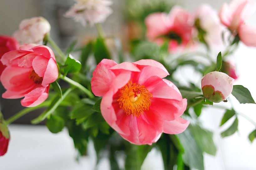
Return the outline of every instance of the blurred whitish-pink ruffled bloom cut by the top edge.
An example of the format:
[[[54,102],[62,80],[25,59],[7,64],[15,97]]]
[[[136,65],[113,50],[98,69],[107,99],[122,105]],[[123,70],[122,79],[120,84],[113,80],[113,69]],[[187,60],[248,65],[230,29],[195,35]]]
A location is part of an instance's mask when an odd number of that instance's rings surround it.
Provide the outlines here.
[[[110,0],[76,0],[76,4],[66,12],[65,17],[74,18],[85,27],[89,23],[91,27],[96,23],[102,23],[112,13],[109,7]]]

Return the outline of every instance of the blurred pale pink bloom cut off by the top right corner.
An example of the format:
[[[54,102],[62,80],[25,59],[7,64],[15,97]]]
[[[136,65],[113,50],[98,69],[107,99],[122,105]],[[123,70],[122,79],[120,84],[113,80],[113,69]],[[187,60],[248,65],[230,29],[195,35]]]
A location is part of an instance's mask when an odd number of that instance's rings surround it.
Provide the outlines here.
[[[247,46],[256,46],[256,27],[244,23],[256,10],[254,0],[233,0],[229,5],[224,3],[219,17],[223,25]]]

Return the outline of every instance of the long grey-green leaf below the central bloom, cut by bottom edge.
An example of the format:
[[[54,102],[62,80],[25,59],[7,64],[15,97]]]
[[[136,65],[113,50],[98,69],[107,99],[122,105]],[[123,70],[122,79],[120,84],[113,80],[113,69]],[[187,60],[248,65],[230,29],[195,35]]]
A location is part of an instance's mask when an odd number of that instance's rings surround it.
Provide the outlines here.
[[[177,134],[177,136],[184,148],[182,155],[184,163],[190,168],[204,170],[203,153],[191,135],[190,130],[186,129],[181,134]]]

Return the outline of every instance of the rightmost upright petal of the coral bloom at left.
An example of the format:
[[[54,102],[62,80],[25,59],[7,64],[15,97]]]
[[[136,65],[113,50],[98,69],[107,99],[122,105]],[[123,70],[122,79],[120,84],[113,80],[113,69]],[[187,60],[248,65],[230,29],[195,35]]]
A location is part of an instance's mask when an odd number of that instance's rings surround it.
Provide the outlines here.
[[[59,70],[56,65],[56,61],[53,58],[50,58],[44,73],[42,86],[48,86],[50,83],[57,80],[58,76],[59,76]]]

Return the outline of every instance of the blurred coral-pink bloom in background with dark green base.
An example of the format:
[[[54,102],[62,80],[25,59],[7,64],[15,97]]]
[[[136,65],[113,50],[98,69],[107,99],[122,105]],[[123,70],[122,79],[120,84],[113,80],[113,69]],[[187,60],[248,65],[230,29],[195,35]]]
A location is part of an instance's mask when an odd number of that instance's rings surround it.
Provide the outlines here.
[[[178,6],[173,7],[169,14],[150,14],[145,24],[149,41],[162,45],[167,40],[169,51],[187,46],[192,39],[191,15]]]

